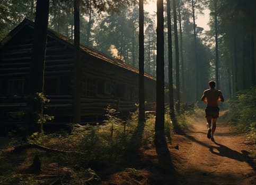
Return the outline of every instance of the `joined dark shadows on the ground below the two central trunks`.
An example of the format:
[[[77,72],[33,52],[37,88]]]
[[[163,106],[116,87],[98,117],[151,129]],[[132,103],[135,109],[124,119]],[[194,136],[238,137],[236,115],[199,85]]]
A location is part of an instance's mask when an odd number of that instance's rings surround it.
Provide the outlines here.
[[[154,159],[143,158],[142,151],[143,146],[143,131],[145,124],[138,124],[135,132],[131,136],[129,147],[125,151],[125,160],[127,166],[133,166],[136,169],[148,169],[149,184],[169,184],[173,182],[176,184],[175,169],[172,163],[171,154],[168,149],[165,136],[155,137],[154,144],[157,154],[157,161]],[[135,162],[136,161],[136,162]]]

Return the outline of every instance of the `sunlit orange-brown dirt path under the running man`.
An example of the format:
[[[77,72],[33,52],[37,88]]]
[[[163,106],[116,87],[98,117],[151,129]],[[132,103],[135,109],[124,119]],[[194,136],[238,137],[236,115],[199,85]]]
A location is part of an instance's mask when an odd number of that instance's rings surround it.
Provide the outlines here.
[[[179,184],[240,185],[256,184],[255,161],[244,135],[222,121],[217,123],[215,143],[207,138],[204,117],[191,121],[187,135],[175,135],[172,145]]]

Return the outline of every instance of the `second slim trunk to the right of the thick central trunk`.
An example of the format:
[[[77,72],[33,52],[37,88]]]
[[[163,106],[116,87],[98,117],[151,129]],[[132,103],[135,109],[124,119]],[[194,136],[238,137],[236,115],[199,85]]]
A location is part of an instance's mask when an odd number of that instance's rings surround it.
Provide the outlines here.
[[[176,110],[180,112],[180,59],[179,59],[179,41],[177,29],[176,0],[173,0],[173,20],[174,20],[174,43],[175,43],[175,59],[176,59]]]

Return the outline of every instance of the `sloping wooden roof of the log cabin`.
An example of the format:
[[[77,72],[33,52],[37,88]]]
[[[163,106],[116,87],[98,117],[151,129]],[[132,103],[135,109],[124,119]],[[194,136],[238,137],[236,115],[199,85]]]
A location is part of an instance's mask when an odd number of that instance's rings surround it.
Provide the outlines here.
[[[21,30],[23,29],[28,29],[28,27],[30,27],[30,29],[34,29],[34,22],[28,20],[27,18],[25,18],[19,25],[17,25],[1,42],[0,42],[0,49],[2,47],[4,47],[4,45],[6,43],[8,43],[17,33],[19,33]],[[57,33],[51,29],[48,29],[47,31],[47,34],[48,36],[51,36],[52,38],[55,38],[57,39],[58,41],[60,42],[63,42],[64,44],[66,44],[68,47],[70,47],[70,49],[74,49],[74,41],[73,40],[70,40],[68,39],[66,36],[60,34],[60,33]],[[87,47],[86,45],[84,44],[80,44],[80,49],[82,52],[86,52],[87,54],[90,54],[91,56],[93,57],[96,57],[96,58],[99,58],[105,62],[109,62],[109,63],[112,63],[116,66],[119,66],[123,69],[127,69],[129,71],[133,71],[133,72],[136,72],[136,73],[139,73],[139,70],[135,67],[132,67],[130,65],[128,65],[127,63],[125,62],[122,62],[118,59],[114,59],[114,58],[111,58],[109,56],[107,56],[107,54],[104,54],[100,51],[96,51],[94,50],[93,48],[90,48],[90,47]],[[148,74],[144,74],[145,77],[147,78],[150,78],[150,79],[153,79],[155,80],[155,78],[151,75],[148,75]]]

